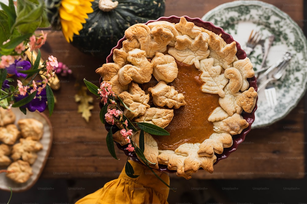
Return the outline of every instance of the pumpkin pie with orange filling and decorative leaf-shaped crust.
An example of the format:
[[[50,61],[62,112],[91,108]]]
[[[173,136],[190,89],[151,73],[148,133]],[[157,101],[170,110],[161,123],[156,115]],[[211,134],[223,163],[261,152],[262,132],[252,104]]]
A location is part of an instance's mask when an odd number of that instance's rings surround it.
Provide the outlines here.
[[[254,76],[249,58],[238,59],[236,42],[196,26],[154,21],[135,24],[125,32],[122,48],[113,50],[112,63],[97,69],[130,110],[134,122],[167,130],[169,136],[145,133],[146,158],[191,178],[202,168],[213,172],[216,154],[231,147],[232,136],[250,124],[257,92],[249,87]],[[138,145],[140,132],[132,140]],[[118,132],[114,139],[121,144]]]

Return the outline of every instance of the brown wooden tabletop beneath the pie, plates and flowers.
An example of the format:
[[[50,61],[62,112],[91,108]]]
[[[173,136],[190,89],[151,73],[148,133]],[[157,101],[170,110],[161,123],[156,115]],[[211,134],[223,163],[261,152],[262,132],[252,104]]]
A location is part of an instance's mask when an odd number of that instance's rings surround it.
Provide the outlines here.
[[[187,15],[202,17],[219,4],[229,2],[203,0],[166,0],[165,16]],[[288,13],[295,22],[303,26],[303,0],[266,1]],[[195,6],[197,5],[197,6]],[[81,53],[68,44],[61,32],[48,34],[48,45],[43,46],[45,59],[54,55],[68,65],[73,75],[59,77],[61,88],[54,91],[57,103],[50,117],[54,139],[52,150],[43,171],[43,178],[116,178],[122,170],[126,156],[116,150],[119,161],[113,159],[106,146],[106,130],[99,120],[98,100],[94,99],[92,116],[87,123],[75,102],[76,83],[83,78],[99,84],[95,69],[105,63],[105,57],[95,58]],[[91,94],[90,94],[91,95]],[[94,96],[94,95],[92,95]],[[94,97],[95,98],[95,97]],[[238,150],[229,158],[214,166],[214,173],[199,171],[193,178],[201,179],[255,179],[255,178],[302,178],[304,177],[304,99],[284,119],[273,125],[253,129]],[[46,114],[48,114],[46,112]],[[171,175],[176,177],[175,175]]]

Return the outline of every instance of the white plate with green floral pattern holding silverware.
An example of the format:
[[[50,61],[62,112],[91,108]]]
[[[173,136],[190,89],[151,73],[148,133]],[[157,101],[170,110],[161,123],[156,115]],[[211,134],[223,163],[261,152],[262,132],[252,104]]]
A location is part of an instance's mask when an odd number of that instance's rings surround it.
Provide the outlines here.
[[[275,40],[268,54],[266,64],[272,65],[289,51],[293,54],[286,67],[285,76],[274,83],[278,105],[270,107],[264,91],[258,92],[258,109],[252,128],[261,128],[285,117],[305,93],[307,82],[307,41],[301,28],[277,7],[261,1],[234,1],[217,6],[202,17],[223,28],[244,49],[247,39],[254,29],[262,33],[264,47],[268,37]],[[250,55],[255,70],[262,61],[262,46],[258,45]],[[263,127],[262,127],[263,128]]]

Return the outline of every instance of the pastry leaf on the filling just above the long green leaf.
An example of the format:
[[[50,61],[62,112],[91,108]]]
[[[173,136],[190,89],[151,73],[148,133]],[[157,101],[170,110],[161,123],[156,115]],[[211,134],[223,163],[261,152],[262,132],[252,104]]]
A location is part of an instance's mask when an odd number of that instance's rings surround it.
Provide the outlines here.
[[[135,122],[145,122],[165,128],[173,119],[173,109],[148,108],[144,115],[135,119]]]

